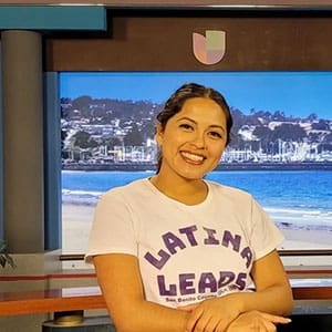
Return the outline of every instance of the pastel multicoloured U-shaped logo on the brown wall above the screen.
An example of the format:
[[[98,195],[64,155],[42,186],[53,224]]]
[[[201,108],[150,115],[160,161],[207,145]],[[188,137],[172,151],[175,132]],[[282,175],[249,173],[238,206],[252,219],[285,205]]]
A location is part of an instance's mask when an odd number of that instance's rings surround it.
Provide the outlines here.
[[[205,35],[193,33],[193,51],[195,58],[204,64],[219,62],[226,52],[226,32],[220,30],[206,30]]]

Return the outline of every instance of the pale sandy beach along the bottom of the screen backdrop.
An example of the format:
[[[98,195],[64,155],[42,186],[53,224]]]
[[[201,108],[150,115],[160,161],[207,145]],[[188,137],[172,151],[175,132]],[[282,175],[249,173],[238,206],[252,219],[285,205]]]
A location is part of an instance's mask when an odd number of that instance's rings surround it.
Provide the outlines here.
[[[62,243],[65,253],[84,253],[93,220],[94,206],[62,205]],[[331,249],[332,231],[282,228],[286,241],[279,249]]]

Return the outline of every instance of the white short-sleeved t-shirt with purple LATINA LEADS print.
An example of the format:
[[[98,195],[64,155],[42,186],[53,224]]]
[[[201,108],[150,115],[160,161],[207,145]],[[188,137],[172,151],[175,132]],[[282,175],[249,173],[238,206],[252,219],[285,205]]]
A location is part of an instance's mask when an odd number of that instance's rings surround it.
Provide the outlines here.
[[[102,253],[137,257],[146,300],[185,305],[248,290],[253,260],[283,236],[246,191],[212,181],[187,206],[148,179],[105,193],[95,210],[86,261]]]

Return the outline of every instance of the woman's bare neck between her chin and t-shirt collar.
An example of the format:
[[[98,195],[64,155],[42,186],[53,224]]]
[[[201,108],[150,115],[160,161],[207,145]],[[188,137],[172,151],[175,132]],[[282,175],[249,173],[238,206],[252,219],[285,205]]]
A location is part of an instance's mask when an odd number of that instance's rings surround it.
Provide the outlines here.
[[[177,178],[172,180],[160,174],[151,178],[151,183],[167,197],[185,205],[203,203],[208,195],[208,187],[203,179]]]

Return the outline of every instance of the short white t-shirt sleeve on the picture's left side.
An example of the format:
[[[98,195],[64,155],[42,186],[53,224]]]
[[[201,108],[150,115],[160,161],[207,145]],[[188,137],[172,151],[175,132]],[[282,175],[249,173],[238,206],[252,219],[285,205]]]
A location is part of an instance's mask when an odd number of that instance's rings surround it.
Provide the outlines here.
[[[85,261],[105,253],[137,256],[133,214],[121,195],[112,191],[104,194],[96,206]]]

